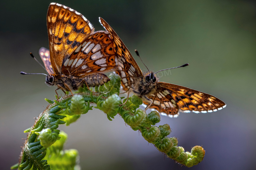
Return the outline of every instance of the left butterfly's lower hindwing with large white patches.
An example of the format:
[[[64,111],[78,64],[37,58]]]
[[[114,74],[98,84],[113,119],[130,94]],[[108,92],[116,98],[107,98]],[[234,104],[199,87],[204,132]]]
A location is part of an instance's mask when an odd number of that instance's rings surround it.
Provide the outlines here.
[[[106,72],[116,67],[113,40],[107,31],[91,34],[64,61],[62,73],[83,77],[88,74]]]

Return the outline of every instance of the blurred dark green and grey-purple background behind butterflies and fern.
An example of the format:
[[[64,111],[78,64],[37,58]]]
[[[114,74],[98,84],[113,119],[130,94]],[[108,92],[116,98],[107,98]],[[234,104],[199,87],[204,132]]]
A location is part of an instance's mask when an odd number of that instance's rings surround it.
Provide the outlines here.
[[[161,117],[179,146],[202,145],[204,160],[193,169],[255,168],[256,4],[250,0],[68,1],[55,2],[83,14],[96,28],[104,18],[121,37],[142,70],[171,70],[161,81],[179,84],[222,99],[227,107],[212,113]],[[48,47],[46,14],[51,1],[4,1],[0,6],[0,167],[18,162],[34,117],[54,99],[45,73],[29,55]],[[40,60],[41,61],[41,60]],[[188,169],[166,158],[138,131],[116,116],[109,121],[94,109],[69,127],[66,149],[80,154],[82,169]]]

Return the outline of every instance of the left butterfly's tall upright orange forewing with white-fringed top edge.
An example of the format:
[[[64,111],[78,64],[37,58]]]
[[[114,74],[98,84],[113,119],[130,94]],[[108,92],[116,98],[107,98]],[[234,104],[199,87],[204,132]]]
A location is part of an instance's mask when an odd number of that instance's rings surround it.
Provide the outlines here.
[[[51,3],[47,13],[50,58],[55,74],[61,73],[63,61],[94,32],[92,24],[77,11]]]

